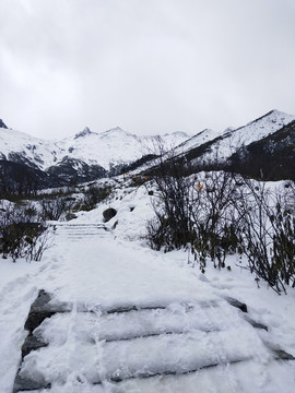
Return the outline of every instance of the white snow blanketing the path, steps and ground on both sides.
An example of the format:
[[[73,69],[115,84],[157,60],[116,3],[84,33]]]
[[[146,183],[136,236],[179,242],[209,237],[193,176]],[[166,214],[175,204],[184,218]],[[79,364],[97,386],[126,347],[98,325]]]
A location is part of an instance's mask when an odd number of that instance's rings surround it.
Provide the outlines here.
[[[118,212],[108,230],[98,226],[106,207]],[[258,289],[235,255],[226,260],[232,271],[209,262],[203,275],[184,250],[150,250],[140,236],[152,216],[144,187],[120,186],[97,209],[56,223],[55,246],[40,262],[0,260],[1,393],[12,391],[39,289],[69,312],[34,331],[48,346],[24,358],[21,376],[51,382],[35,393],[294,392],[295,361],[275,360],[271,348],[295,356],[295,289]],[[246,302],[248,317],[269,331],[253,329],[226,296]],[[140,378],[146,373],[154,377]]]

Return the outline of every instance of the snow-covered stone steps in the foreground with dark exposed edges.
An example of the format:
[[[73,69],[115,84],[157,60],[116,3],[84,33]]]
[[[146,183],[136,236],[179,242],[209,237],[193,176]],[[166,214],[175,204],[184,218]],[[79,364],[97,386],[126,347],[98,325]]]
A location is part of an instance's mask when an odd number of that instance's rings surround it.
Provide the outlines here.
[[[102,310],[51,305],[40,291],[25,327],[30,335],[13,392],[51,386],[62,392],[73,379],[79,392],[86,392],[105,383],[179,378],[258,356],[275,358],[225,301]]]

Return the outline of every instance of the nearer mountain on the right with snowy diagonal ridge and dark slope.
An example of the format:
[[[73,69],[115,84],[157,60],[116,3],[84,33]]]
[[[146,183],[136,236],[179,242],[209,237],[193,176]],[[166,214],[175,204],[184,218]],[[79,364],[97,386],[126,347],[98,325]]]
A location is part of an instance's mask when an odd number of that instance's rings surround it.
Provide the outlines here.
[[[221,134],[206,129],[181,143],[174,159],[185,157],[194,172],[226,169],[257,178],[262,172],[266,180],[295,180],[294,120],[295,116],[274,109]],[[155,165],[148,170],[158,168]]]

